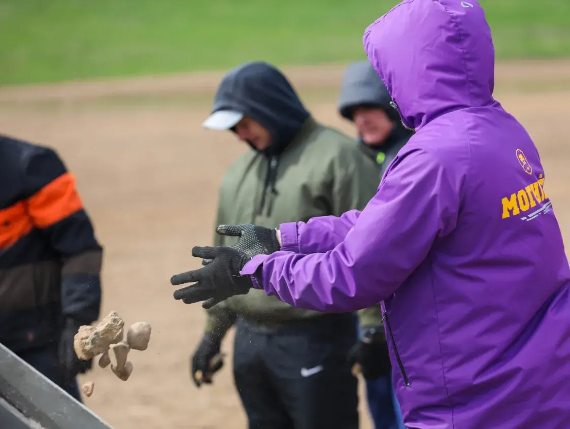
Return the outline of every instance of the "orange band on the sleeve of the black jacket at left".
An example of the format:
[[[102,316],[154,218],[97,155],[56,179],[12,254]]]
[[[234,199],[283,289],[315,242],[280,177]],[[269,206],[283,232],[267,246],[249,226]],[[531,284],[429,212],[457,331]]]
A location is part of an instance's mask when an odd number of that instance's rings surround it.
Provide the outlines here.
[[[26,200],[28,215],[38,228],[56,224],[83,208],[72,173],[63,173]]]

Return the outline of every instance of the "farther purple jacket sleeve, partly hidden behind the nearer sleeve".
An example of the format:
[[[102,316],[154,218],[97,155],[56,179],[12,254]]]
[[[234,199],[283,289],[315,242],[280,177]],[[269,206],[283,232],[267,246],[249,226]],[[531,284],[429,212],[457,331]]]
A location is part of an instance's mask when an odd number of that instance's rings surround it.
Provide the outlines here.
[[[320,216],[308,222],[281,224],[281,248],[306,254],[332,250],[344,240],[359,216],[359,211],[351,210],[340,217]]]

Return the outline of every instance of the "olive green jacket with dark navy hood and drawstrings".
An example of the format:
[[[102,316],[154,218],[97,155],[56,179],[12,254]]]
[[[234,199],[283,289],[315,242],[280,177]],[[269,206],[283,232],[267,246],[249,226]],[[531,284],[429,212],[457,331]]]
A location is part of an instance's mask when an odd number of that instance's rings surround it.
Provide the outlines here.
[[[376,193],[376,163],[355,140],[312,118],[275,68],[247,63],[226,75],[213,113],[230,109],[269,129],[272,145],[269,151],[245,153],[226,170],[215,225],[277,228],[315,216],[340,216],[363,209]],[[283,135],[291,137],[275,138]],[[214,233],[215,246],[232,245],[235,240]],[[263,290],[251,289],[207,310],[206,332],[223,336],[238,316],[271,328],[324,314],[297,309]],[[361,310],[359,316],[361,326],[381,325],[380,304]]]

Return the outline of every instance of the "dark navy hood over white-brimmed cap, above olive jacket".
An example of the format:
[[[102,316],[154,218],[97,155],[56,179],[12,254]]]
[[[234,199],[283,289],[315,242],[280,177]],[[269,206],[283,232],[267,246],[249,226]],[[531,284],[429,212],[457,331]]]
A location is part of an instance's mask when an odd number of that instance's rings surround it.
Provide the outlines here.
[[[310,114],[287,78],[265,62],[248,62],[230,70],[218,86],[212,114],[204,126],[232,129],[243,115],[271,133],[265,155],[279,155],[294,139]]]

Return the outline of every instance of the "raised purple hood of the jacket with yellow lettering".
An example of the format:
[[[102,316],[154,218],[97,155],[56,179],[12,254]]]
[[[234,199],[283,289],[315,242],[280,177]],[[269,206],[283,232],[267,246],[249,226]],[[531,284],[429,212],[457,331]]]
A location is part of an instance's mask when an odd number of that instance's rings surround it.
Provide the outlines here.
[[[493,102],[495,51],[476,1],[406,0],[363,41],[406,127],[418,131],[447,112]]]

